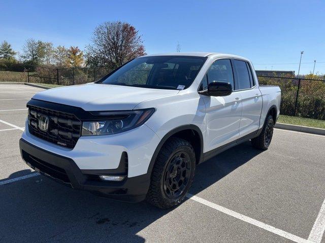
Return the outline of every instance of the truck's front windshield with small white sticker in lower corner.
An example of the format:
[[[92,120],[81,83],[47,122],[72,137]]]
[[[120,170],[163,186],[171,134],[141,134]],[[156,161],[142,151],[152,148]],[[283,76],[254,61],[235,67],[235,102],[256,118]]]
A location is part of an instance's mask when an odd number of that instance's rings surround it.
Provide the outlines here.
[[[140,57],[96,83],[183,90],[192,84],[205,60],[192,56]]]

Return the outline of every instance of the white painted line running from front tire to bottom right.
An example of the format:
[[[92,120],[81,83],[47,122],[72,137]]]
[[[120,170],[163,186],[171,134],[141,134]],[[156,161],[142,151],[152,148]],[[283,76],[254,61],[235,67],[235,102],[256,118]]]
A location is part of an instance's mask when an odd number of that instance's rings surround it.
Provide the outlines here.
[[[226,208],[224,208],[222,206],[219,206],[217,204],[211,203],[211,201],[205,200],[205,199],[203,199],[201,197],[194,196],[194,195],[191,195],[189,193],[187,193],[186,197],[188,197],[189,199],[192,199],[194,201],[197,201],[200,204],[203,204],[205,206],[208,206],[208,207],[210,207],[212,209],[218,210],[218,211],[220,211],[220,212],[222,212],[224,214],[227,214],[227,215],[230,215],[230,216],[232,216],[234,218],[237,218],[237,219],[240,219],[242,221],[245,221],[246,223],[255,225],[255,226],[259,227],[259,228],[262,228],[262,229],[265,229],[267,231],[270,231],[270,232],[272,232],[274,234],[280,235],[280,236],[282,236],[284,238],[293,240],[293,241],[295,241],[297,243],[311,243],[312,242],[310,240],[303,239],[303,238],[301,238],[301,237],[299,237],[297,235],[294,235],[294,234],[285,232],[285,231],[283,231],[281,229],[275,228],[275,227],[273,227],[271,225],[268,225],[268,224],[265,224],[265,223],[263,223],[261,221],[252,219],[250,217],[247,217],[245,215],[242,215],[242,214],[237,213],[235,211],[232,211],[230,209],[226,209]]]

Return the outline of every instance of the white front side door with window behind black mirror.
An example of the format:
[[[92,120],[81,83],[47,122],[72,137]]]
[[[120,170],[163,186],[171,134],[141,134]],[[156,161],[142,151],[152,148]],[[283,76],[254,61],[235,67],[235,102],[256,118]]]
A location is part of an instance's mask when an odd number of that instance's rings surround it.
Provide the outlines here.
[[[213,81],[228,82],[235,89],[234,73],[230,59],[216,60],[202,80],[202,89],[206,90]],[[228,96],[203,96],[206,104],[205,152],[232,142],[239,137],[239,125],[242,112],[241,94]]]

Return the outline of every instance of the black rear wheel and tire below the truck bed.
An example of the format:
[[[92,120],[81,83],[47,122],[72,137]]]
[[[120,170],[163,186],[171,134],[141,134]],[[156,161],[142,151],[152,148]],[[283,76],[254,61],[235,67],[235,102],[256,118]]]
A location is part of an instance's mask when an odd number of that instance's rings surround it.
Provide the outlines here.
[[[272,115],[268,115],[263,130],[258,137],[253,138],[251,143],[254,148],[266,150],[271,144],[272,136],[273,136],[273,128],[274,128],[274,120]]]

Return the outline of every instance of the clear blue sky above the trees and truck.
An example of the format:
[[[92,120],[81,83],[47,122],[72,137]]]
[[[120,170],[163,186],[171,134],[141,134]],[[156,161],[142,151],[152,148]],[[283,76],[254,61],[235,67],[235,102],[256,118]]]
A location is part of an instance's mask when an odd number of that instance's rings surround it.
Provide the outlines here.
[[[104,21],[142,34],[146,52],[212,51],[241,55],[255,69],[325,74],[325,1],[4,1],[0,42],[21,50],[27,38],[81,49]]]

